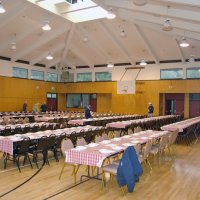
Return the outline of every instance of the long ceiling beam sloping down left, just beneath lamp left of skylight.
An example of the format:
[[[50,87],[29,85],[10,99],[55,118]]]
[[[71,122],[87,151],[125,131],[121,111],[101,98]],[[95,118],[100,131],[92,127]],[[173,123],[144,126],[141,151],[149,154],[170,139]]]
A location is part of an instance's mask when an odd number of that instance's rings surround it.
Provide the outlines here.
[[[29,53],[31,53],[35,49],[38,49],[39,47],[41,47],[42,45],[45,45],[46,43],[51,42],[51,40],[62,35],[64,32],[66,32],[66,29],[63,28],[63,29],[57,29],[55,31],[52,31],[51,35],[50,35],[50,33],[49,34],[47,34],[47,33],[43,34],[43,36],[40,37],[37,42],[33,43],[32,45],[28,46],[27,48],[24,48],[19,53],[15,54],[15,56],[13,56],[11,58],[11,60],[16,61],[18,59],[22,59],[25,55],[28,55]]]

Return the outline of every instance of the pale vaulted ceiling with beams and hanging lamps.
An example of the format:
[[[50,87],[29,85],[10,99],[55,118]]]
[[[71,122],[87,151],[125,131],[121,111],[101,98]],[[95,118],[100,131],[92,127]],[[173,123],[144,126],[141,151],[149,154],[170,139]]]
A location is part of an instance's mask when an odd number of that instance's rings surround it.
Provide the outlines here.
[[[109,62],[135,66],[141,59],[158,64],[185,62],[191,55],[200,58],[199,0],[149,0],[144,6],[136,6],[132,0],[93,0],[107,11],[112,8],[117,17],[80,23],[71,22],[66,15],[87,11],[85,8],[66,14],[59,5],[65,13],[62,16],[40,6],[42,1],[48,0],[2,1],[7,12],[0,14],[1,57],[46,67],[91,68]],[[170,19],[172,31],[162,30],[166,19]],[[41,29],[44,21],[49,21],[50,31]],[[189,47],[179,46],[182,37]],[[16,51],[11,49],[13,42]],[[49,52],[54,57],[51,61],[45,58]]]

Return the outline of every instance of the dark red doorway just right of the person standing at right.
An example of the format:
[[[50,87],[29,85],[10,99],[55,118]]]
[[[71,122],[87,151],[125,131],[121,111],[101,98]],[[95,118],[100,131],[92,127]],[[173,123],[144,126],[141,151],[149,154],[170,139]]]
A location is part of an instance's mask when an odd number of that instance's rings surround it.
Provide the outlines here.
[[[184,94],[165,94],[165,114],[184,114]]]

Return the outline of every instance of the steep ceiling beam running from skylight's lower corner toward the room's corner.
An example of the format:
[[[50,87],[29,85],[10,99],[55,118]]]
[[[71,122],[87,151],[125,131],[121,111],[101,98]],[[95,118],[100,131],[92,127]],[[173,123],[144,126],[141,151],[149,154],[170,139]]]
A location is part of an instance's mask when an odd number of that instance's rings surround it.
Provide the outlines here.
[[[64,61],[65,61],[65,58],[67,56],[67,53],[69,51],[69,46],[70,46],[70,43],[71,43],[71,40],[73,38],[73,35],[74,35],[74,30],[75,30],[75,24],[72,23],[71,24],[71,27],[69,29],[69,31],[67,32],[67,35],[66,35],[66,40],[65,40],[65,47],[64,47],[64,50],[63,50],[63,53],[62,53],[62,57],[61,57],[61,67],[63,66],[64,64]]]

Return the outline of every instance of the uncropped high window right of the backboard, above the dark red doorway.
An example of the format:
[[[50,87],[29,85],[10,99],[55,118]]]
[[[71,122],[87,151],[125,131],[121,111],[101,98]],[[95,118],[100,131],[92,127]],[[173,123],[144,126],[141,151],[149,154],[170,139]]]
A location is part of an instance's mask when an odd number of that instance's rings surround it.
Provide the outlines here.
[[[182,79],[183,70],[182,69],[161,69],[160,79]]]

